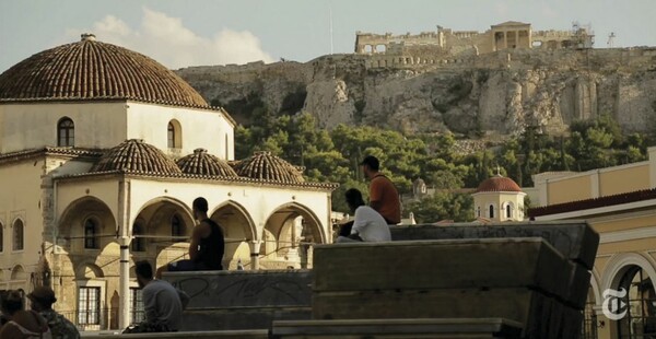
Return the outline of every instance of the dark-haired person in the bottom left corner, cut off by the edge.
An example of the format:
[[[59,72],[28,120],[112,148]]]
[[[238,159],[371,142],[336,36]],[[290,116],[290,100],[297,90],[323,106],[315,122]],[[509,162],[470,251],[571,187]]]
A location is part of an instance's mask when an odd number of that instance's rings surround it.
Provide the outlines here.
[[[34,311],[25,311],[21,291],[7,292],[0,302],[0,307],[8,318],[7,324],[0,329],[0,338],[52,338],[46,319]]]

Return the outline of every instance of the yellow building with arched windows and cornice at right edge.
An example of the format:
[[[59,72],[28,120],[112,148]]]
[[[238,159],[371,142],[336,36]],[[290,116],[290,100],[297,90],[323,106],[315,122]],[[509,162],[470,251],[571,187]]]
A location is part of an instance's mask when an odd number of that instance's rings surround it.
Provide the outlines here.
[[[586,220],[600,235],[583,338],[656,336],[656,148],[648,149],[647,161],[542,173],[534,183],[530,217]],[[605,313],[605,305],[612,305],[610,290],[625,291],[621,303],[616,301],[623,313],[619,319]]]

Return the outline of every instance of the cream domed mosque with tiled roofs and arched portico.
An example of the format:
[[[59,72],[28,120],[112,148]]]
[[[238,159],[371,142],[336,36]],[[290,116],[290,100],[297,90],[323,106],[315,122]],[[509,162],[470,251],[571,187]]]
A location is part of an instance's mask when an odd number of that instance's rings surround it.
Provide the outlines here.
[[[235,161],[235,125],[157,61],[93,34],[0,74],[0,187],[12,196],[0,199],[0,289],[51,285],[59,309],[102,314],[81,328],[125,328],[130,267],[185,257],[197,197],[223,229],[224,268],[311,265],[309,245],[331,242],[336,185],[269,153]],[[99,312],[110,296],[118,322]]]

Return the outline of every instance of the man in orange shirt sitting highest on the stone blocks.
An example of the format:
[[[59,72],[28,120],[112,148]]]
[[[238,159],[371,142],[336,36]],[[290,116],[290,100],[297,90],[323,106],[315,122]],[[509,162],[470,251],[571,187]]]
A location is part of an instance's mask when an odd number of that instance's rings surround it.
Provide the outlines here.
[[[390,225],[401,222],[401,201],[394,183],[379,172],[380,163],[373,155],[367,155],[360,163],[362,172],[370,178],[370,206],[378,211]]]

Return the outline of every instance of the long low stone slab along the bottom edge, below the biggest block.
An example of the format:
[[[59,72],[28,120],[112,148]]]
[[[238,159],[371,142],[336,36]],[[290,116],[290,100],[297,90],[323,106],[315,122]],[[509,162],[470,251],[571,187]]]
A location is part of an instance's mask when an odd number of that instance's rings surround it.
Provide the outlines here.
[[[273,323],[272,338],[520,338],[520,324],[502,318],[348,319]]]

